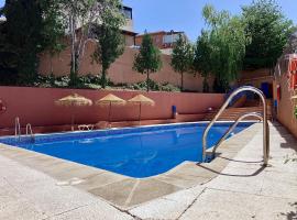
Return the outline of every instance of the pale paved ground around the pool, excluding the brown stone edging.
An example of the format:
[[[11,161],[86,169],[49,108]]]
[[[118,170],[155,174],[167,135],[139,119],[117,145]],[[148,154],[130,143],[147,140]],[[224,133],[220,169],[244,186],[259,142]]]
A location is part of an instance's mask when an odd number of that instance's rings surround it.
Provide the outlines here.
[[[285,163],[297,152],[297,141],[279,124],[271,124],[266,168],[261,166],[261,130],[243,144],[212,180],[129,210],[59,186],[0,152],[0,219],[297,219],[297,163]]]

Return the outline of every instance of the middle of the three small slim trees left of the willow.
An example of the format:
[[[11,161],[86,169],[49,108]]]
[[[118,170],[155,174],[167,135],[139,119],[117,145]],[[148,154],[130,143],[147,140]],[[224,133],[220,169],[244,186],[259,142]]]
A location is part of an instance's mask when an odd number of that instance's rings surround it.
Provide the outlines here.
[[[172,67],[175,72],[182,75],[180,77],[180,88],[184,90],[184,73],[189,73],[191,70],[193,64],[193,46],[187,41],[185,35],[179,34],[176,41],[173,55],[172,55]]]

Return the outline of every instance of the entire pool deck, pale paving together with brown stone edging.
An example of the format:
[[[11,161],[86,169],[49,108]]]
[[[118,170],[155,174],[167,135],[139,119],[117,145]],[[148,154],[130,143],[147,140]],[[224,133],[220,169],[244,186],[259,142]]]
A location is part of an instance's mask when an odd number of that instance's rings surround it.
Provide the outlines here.
[[[272,166],[263,168],[255,124],[210,164],[133,179],[1,145],[0,219],[296,219],[297,163],[285,163],[296,151],[296,140],[271,124]]]

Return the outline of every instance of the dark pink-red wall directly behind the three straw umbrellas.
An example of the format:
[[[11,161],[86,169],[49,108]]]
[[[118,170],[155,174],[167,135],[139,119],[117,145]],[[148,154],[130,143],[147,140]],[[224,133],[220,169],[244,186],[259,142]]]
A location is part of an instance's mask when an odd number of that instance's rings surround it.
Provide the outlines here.
[[[21,124],[31,123],[34,127],[69,124],[70,112],[76,116],[76,123],[96,123],[107,120],[108,110],[105,107],[57,107],[54,101],[72,92],[77,92],[91,100],[98,100],[108,94],[123,99],[130,99],[138,94],[144,94],[155,100],[155,107],[143,107],[143,119],[168,119],[172,117],[172,106],[179,113],[201,113],[209,107],[222,105],[223,95],[186,94],[186,92],[140,92],[120,90],[86,90],[86,89],[50,89],[30,87],[0,87],[0,99],[7,111],[0,113],[0,129],[12,128],[14,118],[19,117]],[[112,121],[138,120],[139,108],[124,106],[112,108]]]

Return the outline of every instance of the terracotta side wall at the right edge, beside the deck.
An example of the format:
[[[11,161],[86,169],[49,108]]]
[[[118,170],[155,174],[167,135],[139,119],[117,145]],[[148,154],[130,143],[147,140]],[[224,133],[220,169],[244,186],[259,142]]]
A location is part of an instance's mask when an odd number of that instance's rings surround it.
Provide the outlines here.
[[[294,106],[297,105],[296,100],[292,100],[290,97],[294,91],[288,89],[288,78],[286,74],[283,74],[276,79],[274,90],[276,94],[276,85],[280,86],[282,98],[278,100],[277,119],[297,138],[297,119],[294,116]]]

